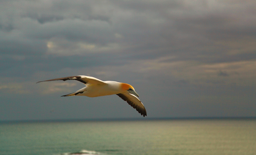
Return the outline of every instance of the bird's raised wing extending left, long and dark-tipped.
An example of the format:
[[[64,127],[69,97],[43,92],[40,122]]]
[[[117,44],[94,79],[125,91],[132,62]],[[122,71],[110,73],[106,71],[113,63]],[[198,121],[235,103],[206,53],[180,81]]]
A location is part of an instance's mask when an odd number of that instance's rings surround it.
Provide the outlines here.
[[[45,80],[45,81],[56,81],[56,80],[63,80],[63,81],[77,80],[77,81],[83,82],[84,84],[87,84],[87,83],[89,83],[89,84],[99,84],[99,85],[106,84],[104,81],[102,81],[100,79],[97,79],[97,78],[94,78],[94,77],[91,77],[91,76],[84,76],[84,75],[69,76],[69,77],[50,79],[50,80]],[[38,81],[36,83],[45,82],[45,81]]]

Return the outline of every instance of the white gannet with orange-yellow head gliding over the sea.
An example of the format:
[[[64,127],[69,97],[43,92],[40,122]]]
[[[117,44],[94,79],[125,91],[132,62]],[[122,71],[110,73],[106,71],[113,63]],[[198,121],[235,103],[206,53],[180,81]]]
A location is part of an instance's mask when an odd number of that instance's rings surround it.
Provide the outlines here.
[[[147,116],[147,112],[144,105],[138,99],[139,95],[136,93],[134,88],[129,84],[116,81],[102,81],[95,77],[85,75],[50,79],[45,81],[38,81],[36,83],[56,80],[77,80],[84,83],[84,85],[86,86],[82,89],[77,90],[76,92],[63,96],[99,97],[116,94],[124,101],[126,101],[129,105],[131,105],[134,109],[136,109],[141,115],[143,115],[143,117]]]

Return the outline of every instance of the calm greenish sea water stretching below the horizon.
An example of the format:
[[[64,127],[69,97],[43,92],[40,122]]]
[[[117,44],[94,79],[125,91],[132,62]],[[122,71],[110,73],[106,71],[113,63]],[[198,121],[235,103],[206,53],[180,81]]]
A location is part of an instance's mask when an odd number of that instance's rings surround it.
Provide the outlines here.
[[[0,123],[0,154],[255,155],[255,119]]]

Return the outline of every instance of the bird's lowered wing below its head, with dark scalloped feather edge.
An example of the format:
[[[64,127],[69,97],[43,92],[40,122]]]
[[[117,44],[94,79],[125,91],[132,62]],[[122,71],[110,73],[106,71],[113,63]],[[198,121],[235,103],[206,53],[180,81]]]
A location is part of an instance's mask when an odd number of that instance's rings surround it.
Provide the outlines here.
[[[133,94],[128,93],[120,93],[116,94],[125,100],[129,105],[131,105],[134,109],[136,109],[143,117],[147,116],[147,111],[142,104],[142,102]]]

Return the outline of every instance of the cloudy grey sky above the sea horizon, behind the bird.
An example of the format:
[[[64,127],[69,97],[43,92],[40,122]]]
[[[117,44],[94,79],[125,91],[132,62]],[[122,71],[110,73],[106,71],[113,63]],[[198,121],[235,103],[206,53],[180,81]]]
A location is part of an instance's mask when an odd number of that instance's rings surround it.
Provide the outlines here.
[[[143,118],[87,75],[132,85],[145,118],[256,117],[254,0],[0,2],[0,121]]]

